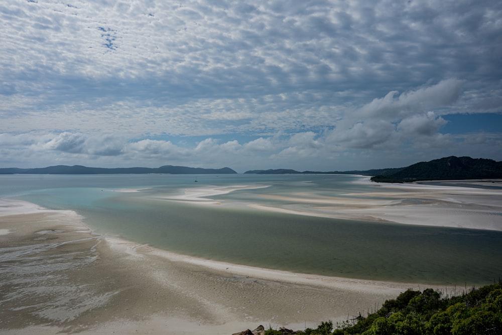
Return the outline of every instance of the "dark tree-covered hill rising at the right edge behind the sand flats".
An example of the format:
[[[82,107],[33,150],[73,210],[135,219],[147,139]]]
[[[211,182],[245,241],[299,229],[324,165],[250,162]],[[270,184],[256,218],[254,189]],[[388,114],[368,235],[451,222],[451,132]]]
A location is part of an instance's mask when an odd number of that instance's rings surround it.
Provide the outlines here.
[[[417,180],[452,180],[502,178],[502,162],[470,157],[444,157],[420,162],[399,171],[380,173],[371,178],[376,182],[411,182]]]

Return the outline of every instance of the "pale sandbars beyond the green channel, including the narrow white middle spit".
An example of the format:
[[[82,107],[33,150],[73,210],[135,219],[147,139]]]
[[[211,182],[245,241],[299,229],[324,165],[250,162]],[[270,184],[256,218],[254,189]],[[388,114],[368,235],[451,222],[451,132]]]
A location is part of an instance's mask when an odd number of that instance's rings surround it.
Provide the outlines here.
[[[287,194],[254,192],[259,202],[212,198],[236,190],[270,186],[229,185],[186,188],[184,194],[153,197],[188,204],[240,205],[296,215],[502,231],[502,188],[483,188],[500,185],[500,180],[448,180],[445,185],[427,185],[374,183],[369,177],[361,177],[353,183],[368,185],[374,190],[336,196],[318,194],[315,188]],[[459,183],[471,187],[455,186]]]

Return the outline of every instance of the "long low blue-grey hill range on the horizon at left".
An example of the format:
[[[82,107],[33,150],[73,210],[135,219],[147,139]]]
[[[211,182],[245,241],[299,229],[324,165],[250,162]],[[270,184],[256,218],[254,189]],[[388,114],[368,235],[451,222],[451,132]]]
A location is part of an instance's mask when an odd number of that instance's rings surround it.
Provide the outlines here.
[[[192,168],[186,166],[164,165],[159,168],[94,168],[82,165],[56,165],[45,168],[35,169],[20,169],[20,168],[3,168],[0,169],[0,174],[147,174],[147,173],[164,173],[164,174],[227,174],[237,173],[234,170],[224,167],[222,169],[203,169]]]

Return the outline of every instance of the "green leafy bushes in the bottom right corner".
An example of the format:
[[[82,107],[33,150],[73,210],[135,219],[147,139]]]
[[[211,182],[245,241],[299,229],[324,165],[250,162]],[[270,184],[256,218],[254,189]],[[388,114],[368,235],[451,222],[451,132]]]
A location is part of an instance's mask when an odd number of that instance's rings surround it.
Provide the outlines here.
[[[442,292],[408,289],[396,299],[387,300],[367,317],[335,325],[322,322],[316,329],[296,331],[305,335],[498,335],[502,334],[502,282],[472,289],[457,296],[442,297]],[[282,334],[269,329],[266,335]]]

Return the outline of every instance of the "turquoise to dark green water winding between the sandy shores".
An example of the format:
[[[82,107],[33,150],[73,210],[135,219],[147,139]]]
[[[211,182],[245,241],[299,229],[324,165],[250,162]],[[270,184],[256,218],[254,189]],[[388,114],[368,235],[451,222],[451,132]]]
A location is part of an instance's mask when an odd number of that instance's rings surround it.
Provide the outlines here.
[[[343,220],[248,206],[312,209],[309,195],[357,198],[357,193],[375,191],[371,184],[358,183],[360,179],[301,174],[0,175],[0,196],[75,210],[98,234],[216,261],[462,286],[501,277],[502,232]],[[186,190],[235,185],[263,187],[207,197],[218,204],[177,199]],[[301,196],[292,201],[291,194]]]

